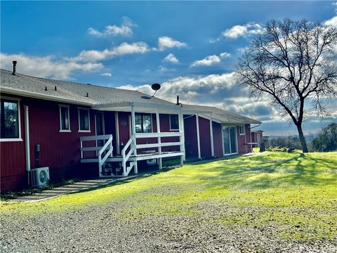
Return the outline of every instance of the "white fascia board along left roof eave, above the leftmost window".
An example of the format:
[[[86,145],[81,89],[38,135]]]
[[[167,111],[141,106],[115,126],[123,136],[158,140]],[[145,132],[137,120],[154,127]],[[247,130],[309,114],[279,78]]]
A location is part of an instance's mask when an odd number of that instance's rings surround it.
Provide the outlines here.
[[[44,94],[35,93],[32,91],[22,91],[18,89],[8,89],[4,87],[1,87],[0,92],[8,93],[11,95],[17,95],[17,96],[25,96],[28,98],[37,98],[37,99],[50,100],[50,101],[56,101],[56,102],[62,102],[62,103],[70,103],[70,104],[75,104],[75,105],[86,105],[86,106],[93,105],[93,103],[90,103],[90,102],[81,102],[81,101],[72,100],[69,98],[58,98],[55,96],[44,95]]]

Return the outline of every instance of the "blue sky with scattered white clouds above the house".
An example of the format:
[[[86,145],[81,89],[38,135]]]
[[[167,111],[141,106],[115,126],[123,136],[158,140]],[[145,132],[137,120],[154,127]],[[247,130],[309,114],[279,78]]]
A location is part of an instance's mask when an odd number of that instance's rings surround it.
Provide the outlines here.
[[[15,58],[25,74],[147,93],[159,82],[159,97],[216,105],[263,119],[267,134],[292,134],[235,84],[237,58],[268,20],[337,25],[336,8],[333,1],[1,1],[1,68]],[[336,117],[311,120],[305,132]]]

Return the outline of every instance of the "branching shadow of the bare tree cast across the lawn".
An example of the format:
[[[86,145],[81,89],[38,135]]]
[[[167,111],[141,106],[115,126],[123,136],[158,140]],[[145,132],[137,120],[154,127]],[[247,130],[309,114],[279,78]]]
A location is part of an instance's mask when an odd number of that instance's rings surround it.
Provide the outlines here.
[[[300,153],[289,159],[267,160],[270,157],[250,157],[220,162],[212,167],[218,176],[207,180],[210,188],[230,187],[242,189],[266,189],[280,186],[337,185],[337,161],[321,159]],[[202,180],[202,177],[201,177]]]

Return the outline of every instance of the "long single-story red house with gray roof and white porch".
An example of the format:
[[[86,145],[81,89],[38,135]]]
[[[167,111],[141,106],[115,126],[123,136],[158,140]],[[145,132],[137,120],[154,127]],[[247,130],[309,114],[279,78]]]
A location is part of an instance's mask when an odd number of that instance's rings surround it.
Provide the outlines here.
[[[1,70],[1,190],[96,174],[128,176],[138,162],[249,152],[251,124],[218,108],[181,105],[139,91]],[[262,136],[262,134],[261,134]]]

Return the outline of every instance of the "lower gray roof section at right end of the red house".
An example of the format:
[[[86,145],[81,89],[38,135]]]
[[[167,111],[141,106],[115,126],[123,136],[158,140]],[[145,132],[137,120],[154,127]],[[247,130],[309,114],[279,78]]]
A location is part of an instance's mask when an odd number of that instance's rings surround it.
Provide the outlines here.
[[[256,119],[251,119],[249,117],[238,115],[237,113],[228,112],[227,110],[215,108],[212,106],[183,105],[183,108],[197,109],[197,110],[209,110],[212,112],[212,117],[214,119],[217,119],[221,123],[227,123],[227,124],[261,124],[262,123]]]

